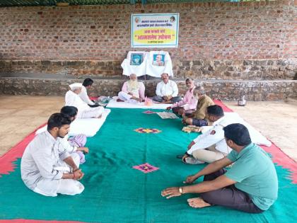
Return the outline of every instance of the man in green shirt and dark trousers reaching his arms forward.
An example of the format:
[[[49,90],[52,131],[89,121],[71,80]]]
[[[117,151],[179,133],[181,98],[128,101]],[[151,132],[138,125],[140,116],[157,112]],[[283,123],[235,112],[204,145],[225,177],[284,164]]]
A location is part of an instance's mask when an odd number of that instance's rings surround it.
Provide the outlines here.
[[[187,200],[191,207],[221,205],[250,213],[268,210],[276,200],[278,191],[272,160],[265,151],[251,142],[244,125],[231,124],[223,130],[228,147],[233,151],[184,181],[193,183],[204,176],[202,183],[166,188],[161,195],[172,198],[184,193],[200,193],[200,198]],[[230,164],[233,166],[228,171],[223,169]]]

